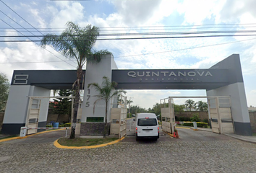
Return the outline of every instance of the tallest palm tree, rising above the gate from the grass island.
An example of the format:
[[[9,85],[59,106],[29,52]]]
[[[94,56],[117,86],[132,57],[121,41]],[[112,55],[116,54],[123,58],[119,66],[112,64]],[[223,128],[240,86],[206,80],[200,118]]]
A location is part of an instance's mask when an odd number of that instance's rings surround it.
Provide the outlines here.
[[[86,61],[99,62],[102,54],[108,54],[107,50],[95,51],[93,45],[99,35],[98,27],[87,25],[79,27],[73,22],[67,22],[67,29],[61,35],[44,35],[41,45],[51,45],[56,51],[66,56],[74,58],[77,61],[77,80],[72,85],[74,94],[74,115],[72,120],[72,129],[69,138],[75,138],[75,128],[77,122],[77,112],[80,100],[80,82],[82,81],[82,66]]]

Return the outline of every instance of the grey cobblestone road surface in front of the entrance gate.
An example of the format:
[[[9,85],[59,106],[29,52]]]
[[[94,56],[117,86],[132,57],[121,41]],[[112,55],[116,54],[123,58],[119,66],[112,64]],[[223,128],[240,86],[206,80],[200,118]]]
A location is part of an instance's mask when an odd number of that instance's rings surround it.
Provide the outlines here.
[[[0,172],[256,172],[255,143],[205,131],[179,129],[181,138],[156,142],[128,136],[80,150],[56,148],[48,136],[45,143],[35,140],[43,136],[0,143]]]

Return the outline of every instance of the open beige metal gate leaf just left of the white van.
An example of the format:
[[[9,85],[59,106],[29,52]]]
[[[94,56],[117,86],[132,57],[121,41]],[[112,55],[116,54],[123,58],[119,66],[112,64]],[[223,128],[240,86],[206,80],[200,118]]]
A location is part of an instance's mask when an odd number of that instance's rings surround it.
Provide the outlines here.
[[[111,125],[110,134],[119,138],[126,136],[127,131],[127,97],[114,97],[111,99]]]

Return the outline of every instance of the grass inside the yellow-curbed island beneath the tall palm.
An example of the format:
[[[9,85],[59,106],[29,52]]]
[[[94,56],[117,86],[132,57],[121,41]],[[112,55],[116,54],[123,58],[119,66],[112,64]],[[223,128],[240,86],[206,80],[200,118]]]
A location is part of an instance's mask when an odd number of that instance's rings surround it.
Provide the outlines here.
[[[60,138],[58,142],[61,146],[97,146],[117,139],[119,138]]]

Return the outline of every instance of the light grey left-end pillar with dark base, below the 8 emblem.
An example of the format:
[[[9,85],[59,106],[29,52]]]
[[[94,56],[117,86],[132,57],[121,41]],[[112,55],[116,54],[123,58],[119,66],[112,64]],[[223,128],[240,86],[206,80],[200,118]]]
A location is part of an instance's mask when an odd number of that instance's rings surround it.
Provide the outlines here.
[[[2,133],[20,134],[25,126],[30,96],[50,96],[50,90],[38,86],[11,85],[2,125]],[[46,127],[49,99],[41,99],[38,127]]]

